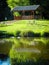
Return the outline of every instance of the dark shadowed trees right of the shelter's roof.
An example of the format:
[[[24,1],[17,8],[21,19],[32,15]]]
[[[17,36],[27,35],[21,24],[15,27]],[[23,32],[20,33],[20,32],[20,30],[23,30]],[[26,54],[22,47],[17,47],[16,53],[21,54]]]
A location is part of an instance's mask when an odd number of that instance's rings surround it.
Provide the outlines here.
[[[42,14],[45,19],[49,19],[49,0],[29,0],[30,5],[39,4],[41,5]]]

